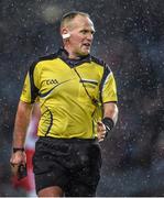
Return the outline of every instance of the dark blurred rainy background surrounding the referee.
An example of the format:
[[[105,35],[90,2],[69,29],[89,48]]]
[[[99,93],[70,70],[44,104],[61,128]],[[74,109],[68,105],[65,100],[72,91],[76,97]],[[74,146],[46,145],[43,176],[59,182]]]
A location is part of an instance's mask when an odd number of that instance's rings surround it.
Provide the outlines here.
[[[101,143],[97,196],[164,196],[163,0],[0,0],[0,196],[28,196],[11,183],[17,106],[29,66],[61,46],[61,16],[73,10],[90,14],[92,54],[118,85],[119,121]]]

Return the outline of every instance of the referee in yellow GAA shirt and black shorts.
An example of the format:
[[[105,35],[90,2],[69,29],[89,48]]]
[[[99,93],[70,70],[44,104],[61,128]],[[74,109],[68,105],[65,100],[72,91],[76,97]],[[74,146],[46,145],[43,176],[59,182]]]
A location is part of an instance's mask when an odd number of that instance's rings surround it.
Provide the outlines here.
[[[113,74],[90,55],[95,28],[84,12],[61,22],[63,47],[35,62],[20,98],[12,165],[25,164],[24,140],[34,102],[40,102],[33,166],[39,197],[95,196],[103,141],[118,119]]]

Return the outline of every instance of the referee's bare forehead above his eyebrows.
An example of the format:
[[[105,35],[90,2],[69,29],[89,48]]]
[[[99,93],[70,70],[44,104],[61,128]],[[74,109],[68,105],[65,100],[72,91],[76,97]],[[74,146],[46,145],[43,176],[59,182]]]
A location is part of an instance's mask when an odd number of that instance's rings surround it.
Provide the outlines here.
[[[89,29],[95,31],[94,23],[88,16],[76,15],[72,21],[73,29]]]

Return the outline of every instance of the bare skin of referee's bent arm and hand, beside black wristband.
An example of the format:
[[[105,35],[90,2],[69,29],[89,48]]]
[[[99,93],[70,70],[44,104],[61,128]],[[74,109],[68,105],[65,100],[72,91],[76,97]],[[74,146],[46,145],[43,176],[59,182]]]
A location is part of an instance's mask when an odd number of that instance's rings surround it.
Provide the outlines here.
[[[116,125],[118,120],[118,107],[114,102],[103,103],[103,118],[109,118],[113,121],[113,125]],[[99,142],[103,141],[106,138],[106,125],[102,121],[98,122],[98,140]]]

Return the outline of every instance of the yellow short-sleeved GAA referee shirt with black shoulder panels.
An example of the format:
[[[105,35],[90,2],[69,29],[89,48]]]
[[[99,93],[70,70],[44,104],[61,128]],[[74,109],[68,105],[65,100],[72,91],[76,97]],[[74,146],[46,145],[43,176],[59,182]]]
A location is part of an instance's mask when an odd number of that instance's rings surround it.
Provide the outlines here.
[[[109,66],[90,55],[69,59],[65,50],[34,63],[21,101],[40,101],[39,136],[94,139],[99,103],[117,101]]]

